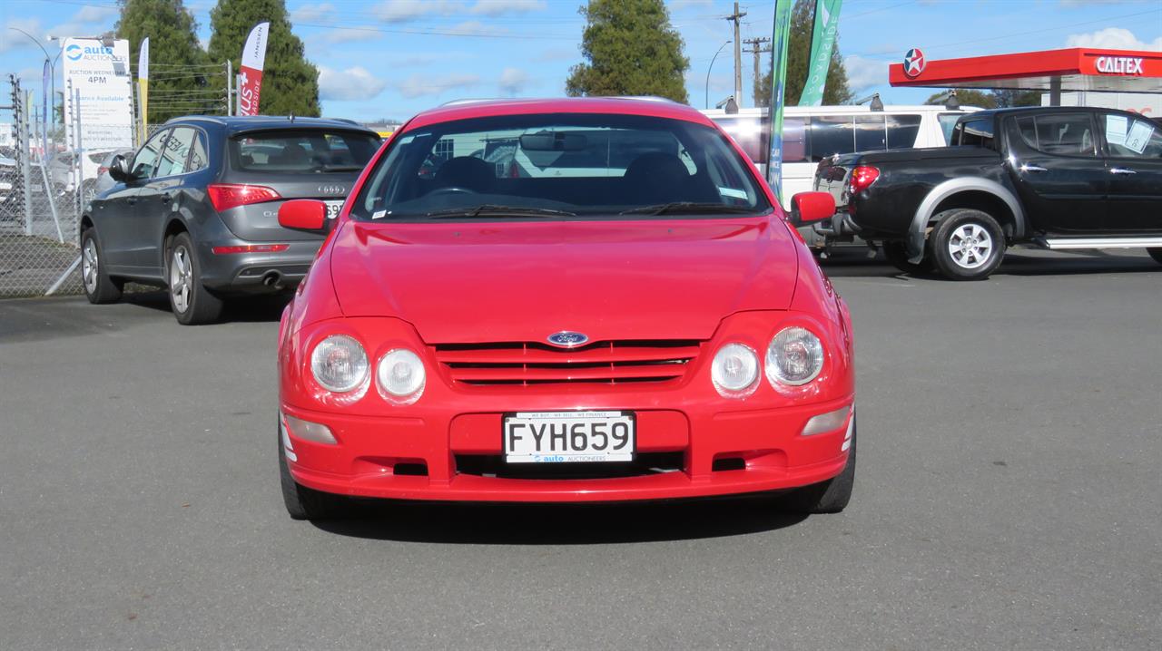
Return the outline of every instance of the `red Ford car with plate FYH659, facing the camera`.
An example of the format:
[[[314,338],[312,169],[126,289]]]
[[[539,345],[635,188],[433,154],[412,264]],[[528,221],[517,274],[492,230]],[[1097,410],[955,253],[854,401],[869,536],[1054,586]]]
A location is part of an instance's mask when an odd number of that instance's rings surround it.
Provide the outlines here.
[[[503,164],[485,159],[497,142]],[[834,210],[794,204],[795,224]],[[691,108],[445,106],[383,144],[337,219],[297,200],[279,222],[330,227],[279,332],[293,518],[340,496],[851,498],[847,308]]]

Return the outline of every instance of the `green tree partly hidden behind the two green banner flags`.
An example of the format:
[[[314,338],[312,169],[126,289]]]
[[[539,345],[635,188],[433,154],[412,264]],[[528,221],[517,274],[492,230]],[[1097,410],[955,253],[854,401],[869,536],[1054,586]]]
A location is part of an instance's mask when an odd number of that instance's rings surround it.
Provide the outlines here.
[[[806,86],[806,75],[811,66],[811,32],[815,22],[815,0],[797,0],[791,10],[790,42],[787,44],[787,82],[783,86],[783,102],[787,106],[798,104]],[[823,89],[823,103],[846,104],[852,101],[852,91],[847,86],[847,68],[839,55],[839,38],[831,51],[831,65],[827,67],[827,85]],[[770,72],[768,71],[754,82],[754,106],[770,106]]]

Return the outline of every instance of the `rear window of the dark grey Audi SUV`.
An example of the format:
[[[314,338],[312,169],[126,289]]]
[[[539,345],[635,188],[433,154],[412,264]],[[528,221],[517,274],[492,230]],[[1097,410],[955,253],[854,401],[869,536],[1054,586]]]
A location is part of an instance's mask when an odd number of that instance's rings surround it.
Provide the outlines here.
[[[230,161],[246,172],[353,172],[379,149],[379,136],[359,131],[263,131],[230,139]]]

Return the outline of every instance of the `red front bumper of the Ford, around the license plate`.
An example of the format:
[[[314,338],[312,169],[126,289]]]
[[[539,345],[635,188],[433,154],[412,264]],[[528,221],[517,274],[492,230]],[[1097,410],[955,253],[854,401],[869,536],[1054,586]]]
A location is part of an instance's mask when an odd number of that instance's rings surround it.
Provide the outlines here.
[[[802,432],[812,417],[851,407],[853,397],[734,412],[717,411],[712,402],[658,408],[657,398],[622,396],[591,405],[633,411],[637,417],[643,463],[621,476],[505,476],[503,413],[555,410],[560,397],[502,400],[512,404],[479,400],[471,406],[480,411],[469,406],[415,418],[346,415],[284,404],[284,413],[325,425],[337,442],[301,439],[282,418],[280,435],[297,483],[329,493],[393,499],[587,502],[740,494],[824,482],[847,463],[854,426],[851,408],[834,431],[810,436]],[[669,466],[651,469],[651,460]]]

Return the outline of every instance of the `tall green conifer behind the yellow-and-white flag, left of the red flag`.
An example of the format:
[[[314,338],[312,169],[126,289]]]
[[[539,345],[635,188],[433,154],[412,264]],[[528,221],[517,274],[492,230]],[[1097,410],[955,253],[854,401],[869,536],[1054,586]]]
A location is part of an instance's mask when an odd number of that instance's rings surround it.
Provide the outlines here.
[[[149,116],[152,124],[189,114],[223,113],[225,93],[198,44],[198,21],[181,0],[124,0],[115,27],[129,41],[130,66],[137,71],[141,42],[149,37]],[[136,77],[136,74],[135,74]]]

